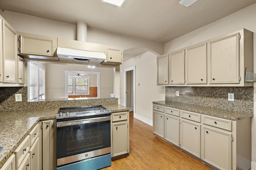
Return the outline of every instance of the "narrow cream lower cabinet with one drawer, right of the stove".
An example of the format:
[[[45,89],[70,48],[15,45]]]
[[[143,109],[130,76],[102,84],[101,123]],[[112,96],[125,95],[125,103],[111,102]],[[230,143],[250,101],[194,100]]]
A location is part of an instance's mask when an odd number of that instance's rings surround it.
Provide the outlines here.
[[[129,112],[111,114],[111,157],[117,158],[129,153]]]

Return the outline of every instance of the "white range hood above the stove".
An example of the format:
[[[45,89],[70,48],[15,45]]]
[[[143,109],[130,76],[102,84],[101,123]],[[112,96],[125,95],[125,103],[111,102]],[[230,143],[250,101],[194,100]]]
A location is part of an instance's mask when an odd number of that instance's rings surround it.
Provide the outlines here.
[[[106,60],[106,55],[103,52],[70,49],[64,47],[57,47],[57,56],[60,61],[74,61],[83,63],[102,63],[104,60]]]

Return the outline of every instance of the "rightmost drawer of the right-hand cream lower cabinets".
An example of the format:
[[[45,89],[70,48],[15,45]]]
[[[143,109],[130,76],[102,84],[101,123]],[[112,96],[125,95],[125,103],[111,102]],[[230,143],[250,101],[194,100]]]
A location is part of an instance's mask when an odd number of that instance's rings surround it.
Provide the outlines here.
[[[232,131],[232,121],[203,115],[203,123],[221,129]]]

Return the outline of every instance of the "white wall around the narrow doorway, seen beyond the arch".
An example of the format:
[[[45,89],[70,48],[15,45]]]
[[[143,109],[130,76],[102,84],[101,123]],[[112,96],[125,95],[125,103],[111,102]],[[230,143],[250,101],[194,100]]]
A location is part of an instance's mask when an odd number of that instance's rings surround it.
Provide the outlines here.
[[[152,125],[152,102],[165,99],[165,91],[161,91],[161,87],[156,86],[156,55],[146,52],[120,65],[120,95],[122,101],[125,97],[124,69],[132,66],[136,66],[134,117]],[[140,83],[140,85],[137,86],[136,83]]]

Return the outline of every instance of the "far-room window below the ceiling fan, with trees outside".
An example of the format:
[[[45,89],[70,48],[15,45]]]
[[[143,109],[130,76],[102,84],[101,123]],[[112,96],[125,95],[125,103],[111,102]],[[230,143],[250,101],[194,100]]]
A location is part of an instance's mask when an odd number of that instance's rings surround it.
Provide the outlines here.
[[[68,95],[88,95],[90,94],[90,78],[83,74],[68,74]]]

